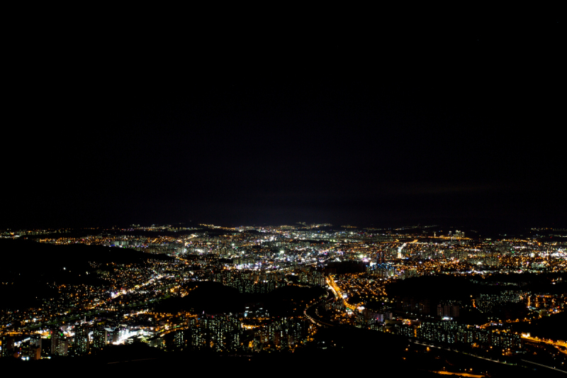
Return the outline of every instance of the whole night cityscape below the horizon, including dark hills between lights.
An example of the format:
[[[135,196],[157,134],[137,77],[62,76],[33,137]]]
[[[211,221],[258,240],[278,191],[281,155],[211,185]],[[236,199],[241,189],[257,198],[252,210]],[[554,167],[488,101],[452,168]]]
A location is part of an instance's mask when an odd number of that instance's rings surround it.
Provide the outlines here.
[[[567,229],[497,236],[305,222],[2,230],[1,356],[349,355],[386,336],[424,372],[567,371]]]

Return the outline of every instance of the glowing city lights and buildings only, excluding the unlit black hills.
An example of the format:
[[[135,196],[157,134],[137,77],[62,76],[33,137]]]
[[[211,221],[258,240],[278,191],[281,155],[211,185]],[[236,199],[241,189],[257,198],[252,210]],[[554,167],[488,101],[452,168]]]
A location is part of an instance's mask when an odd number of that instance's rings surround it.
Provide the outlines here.
[[[130,263],[93,259],[81,274],[94,275],[96,284],[45,282],[53,296],[34,307],[2,309],[1,357],[78,356],[132,343],[166,351],[293,352],[312,343],[322,328],[354,326],[400,335],[428,350],[452,348],[494,361],[538,355],[558,361],[566,356],[566,340],[541,338],[515,325],[565,311],[564,291],[538,289],[523,278],[545,276],[551,287],[562,284],[565,231],[532,228],[525,237],[480,238],[473,230],[441,226],[305,223],[131,225],[82,229],[79,236],[74,230],[4,230],[1,238],[100,245],[116,255],[137,250],[155,258]],[[65,261],[60,264],[67,269]],[[440,279],[442,285],[443,279],[459,279],[480,289],[466,298],[444,296],[417,288],[427,279]],[[18,291],[13,282],[0,281]],[[254,300],[240,312],[160,307],[210,282]],[[404,282],[416,289],[404,289]],[[317,294],[288,301],[288,316],[270,313],[262,295],[286,287]]]

